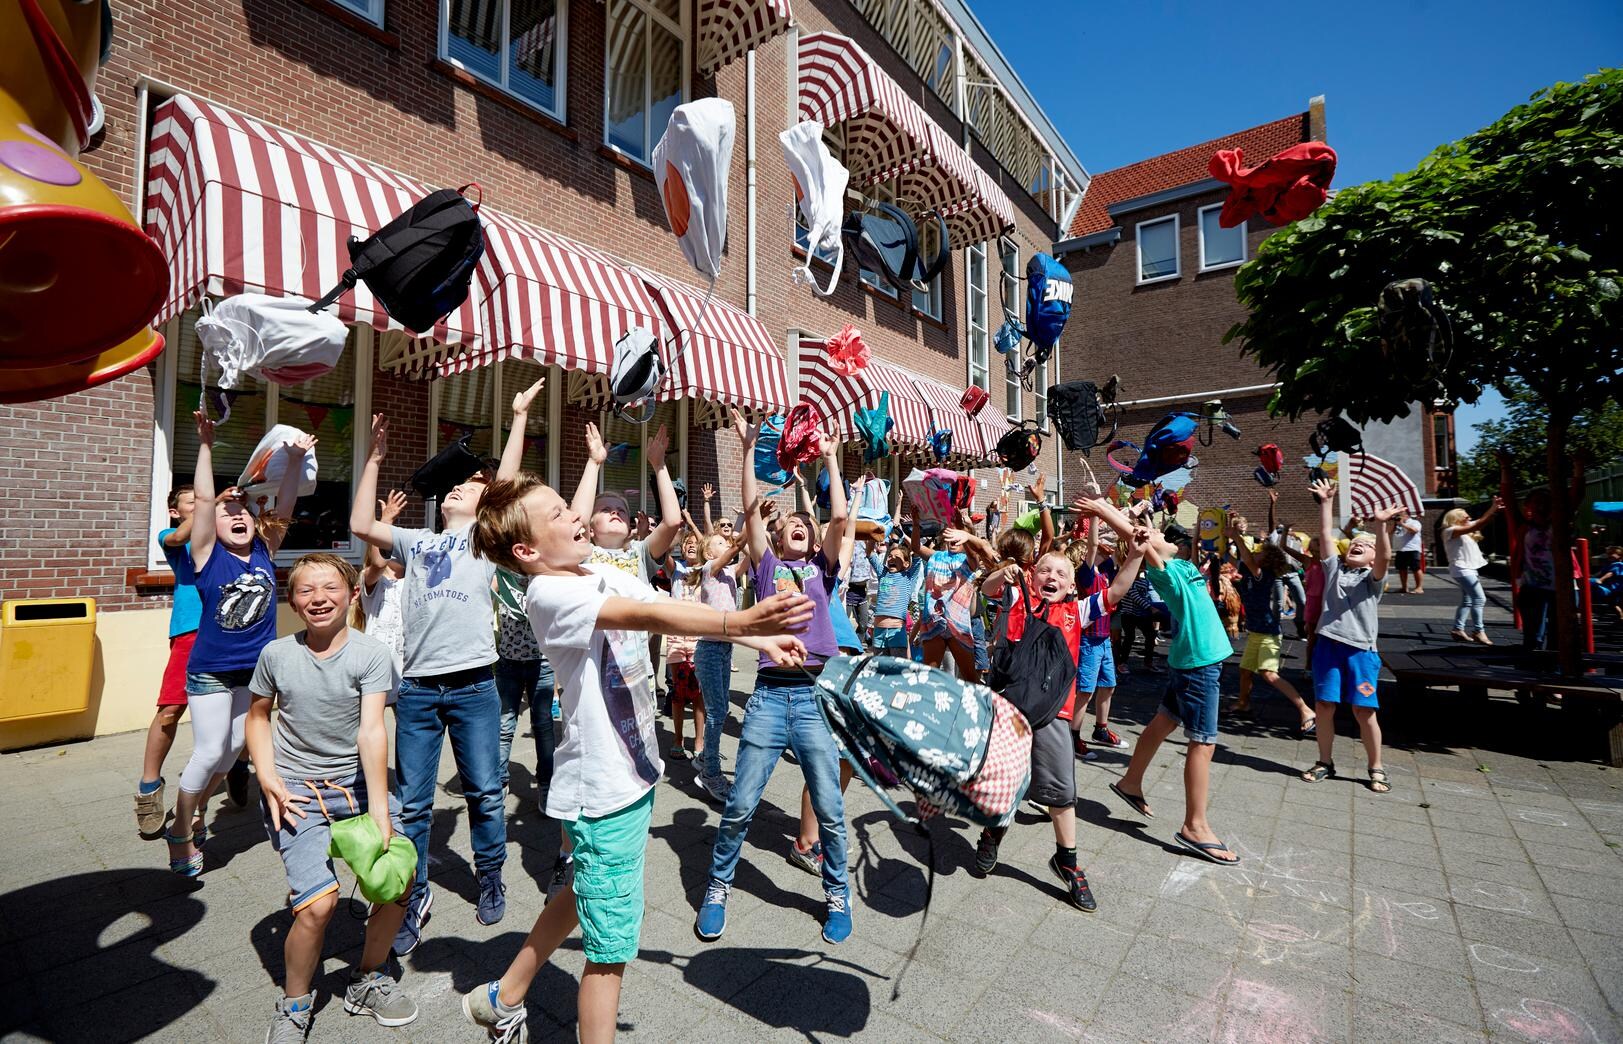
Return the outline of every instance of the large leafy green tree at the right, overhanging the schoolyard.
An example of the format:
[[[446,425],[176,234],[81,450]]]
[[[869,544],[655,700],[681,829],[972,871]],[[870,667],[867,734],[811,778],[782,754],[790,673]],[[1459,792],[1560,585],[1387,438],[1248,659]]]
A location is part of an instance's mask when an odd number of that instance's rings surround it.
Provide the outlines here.
[[[1339,192],[1263,240],[1235,278],[1251,313],[1227,339],[1281,382],[1276,414],[1355,422],[1422,399],[1474,403],[1524,388],[1543,411],[1543,474],[1556,563],[1569,560],[1579,417],[1623,388],[1623,70],[1560,83],[1389,182]],[[1375,302],[1394,279],[1430,279],[1453,349],[1397,354]],[[1576,610],[1556,599],[1561,669],[1579,669]]]

